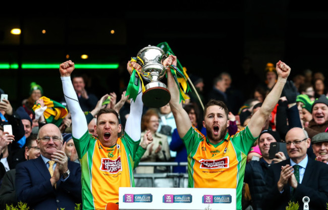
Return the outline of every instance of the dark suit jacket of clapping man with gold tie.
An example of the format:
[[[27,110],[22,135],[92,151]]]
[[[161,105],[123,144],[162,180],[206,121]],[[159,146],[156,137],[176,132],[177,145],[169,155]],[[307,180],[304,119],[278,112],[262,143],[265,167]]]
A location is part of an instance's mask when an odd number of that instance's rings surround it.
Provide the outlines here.
[[[82,202],[81,166],[68,161],[69,177],[60,179],[57,187],[50,183],[50,173],[41,156],[16,166],[15,188],[18,200],[30,209],[74,209]]]

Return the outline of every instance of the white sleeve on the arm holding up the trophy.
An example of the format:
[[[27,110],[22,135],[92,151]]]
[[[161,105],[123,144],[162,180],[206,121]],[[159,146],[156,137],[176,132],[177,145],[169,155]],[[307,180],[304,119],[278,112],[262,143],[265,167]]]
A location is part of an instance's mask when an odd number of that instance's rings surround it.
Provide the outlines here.
[[[141,96],[142,91],[140,85],[136,101],[133,102],[133,100],[131,100],[130,115],[125,124],[125,132],[133,141],[139,141],[141,136],[141,116],[143,107]]]

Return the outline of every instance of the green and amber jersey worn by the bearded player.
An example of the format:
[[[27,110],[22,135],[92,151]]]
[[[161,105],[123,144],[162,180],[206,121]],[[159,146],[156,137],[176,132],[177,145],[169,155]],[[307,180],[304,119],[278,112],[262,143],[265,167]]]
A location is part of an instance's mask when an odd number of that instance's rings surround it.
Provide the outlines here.
[[[191,127],[182,139],[188,154],[188,187],[236,188],[237,209],[241,209],[247,154],[256,139],[245,127],[231,137],[227,133],[214,145]]]

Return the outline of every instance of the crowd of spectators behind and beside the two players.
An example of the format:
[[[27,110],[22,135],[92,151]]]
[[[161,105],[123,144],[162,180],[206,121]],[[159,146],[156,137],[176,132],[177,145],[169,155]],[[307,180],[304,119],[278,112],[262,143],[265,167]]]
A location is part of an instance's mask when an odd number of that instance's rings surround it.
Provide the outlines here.
[[[244,89],[235,85],[229,72],[218,73],[212,84],[204,84],[202,78],[191,76],[200,97],[198,98],[194,90],[187,93],[190,100],[183,104],[183,108],[192,126],[206,136],[201,105],[206,104],[210,99],[215,99],[227,104],[230,120],[229,135],[233,136],[243,130],[250,118],[262,106],[266,95],[278,79],[274,64],[267,63],[263,69],[265,80],[252,79],[252,85],[244,86]],[[253,72],[245,72],[244,76],[246,78],[253,74]],[[43,88],[37,82],[31,82],[30,96],[22,99],[21,106],[12,107],[10,100],[6,99],[0,102],[0,208],[5,208],[6,204],[15,205],[19,200],[27,202],[34,209],[56,205],[56,202],[63,203],[58,206],[64,207],[71,206],[68,204],[70,202],[82,203],[81,163],[72,137],[71,112],[64,96],[62,101],[52,101],[51,95],[43,92]],[[88,132],[97,138],[95,129],[97,114],[102,108],[111,108],[119,114],[122,124],[119,136],[122,135],[130,114],[131,101],[125,96],[126,92],[112,92],[97,98],[85,90],[83,77],[72,76],[72,83],[86,117]],[[204,86],[212,86],[212,89],[204,92]],[[2,89],[0,92],[6,93]],[[325,77],[320,72],[312,74],[311,70],[307,70],[286,82],[281,98],[267,118],[258,140],[255,141],[251,151],[245,154],[248,158],[244,178],[243,209],[284,209],[288,201],[298,200],[295,196],[303,194],[310,196],[310,205],[312,204],[313,209],[320,209],[328,202],[327,94]],[[120,100],[117,95],[121,95]],[[6,131],[6,125],[11,125],[12,134]],[[188,161],[186,146],[179,137],[169,104],[159,109],[143,107],[140,126],[142,152],[136,153],[136,163]],[[45,136],[45,132],[49,134]],[[42,134],[43,136],[40,136]],[[149,135],[152,141],[147,141]],[[59,139],[56,139],[57,137]],[[51,172],[47,176],[42,175],[42,173],[49,173],[48,169],[44,167],[45,169],[40,170],[37,165],[46,163],[45,165],[49,167],[50,163],[46,160],[51,160],[51,156],[47,156],[47,151],[53,148],[42,145],[46,142],[54,145],[54,154],[60,160],[57,162],[58,166],[50,165],[53,167],[52,173],[58,172],[60,175],[51,182],[52,186],[44,183],[39,188],[31,190],[34,182],[42,182],[42,176],[49,179],[53,177],[50,176]],[[280,143],[281,148],[274,158],[269,157],[271,142]],[[303,161],[299,157],[306,157],[306,163],[303,165],[303,170],[300,164],[301,180],[295,182],[294,179],[291,180],[291,174],[288,172],[292,171],[293,163],[298,164],[298,161]],[[36,160],[40,160],[41,163]],[[311,170],[317,171],[311,177],[310,167]],[[40,177],[33,176],[30,180],[24,178],[28,173],[32,173],[31,171],[41,174]],[[165,172],[169,172],[166,167],[135,165],[135,173]],[[173,172],[186,173],[187,171],[186,167],[178,166]],[[220,188],[220,186],[216,187]],[[52,191],[53,188],[56,193]],[[74,194],[74,192],[79,193]],[[45,198],[46,194],[52,197],[53,201],[50,201],[49,197]],[[263,207],[263,200],[270,206]]]

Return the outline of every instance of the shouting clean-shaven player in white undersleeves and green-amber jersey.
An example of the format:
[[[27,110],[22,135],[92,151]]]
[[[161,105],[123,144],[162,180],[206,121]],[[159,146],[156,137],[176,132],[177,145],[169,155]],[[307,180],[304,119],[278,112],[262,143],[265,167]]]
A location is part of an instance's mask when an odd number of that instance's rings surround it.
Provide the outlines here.
[[[140,69],[137,63],[131,66]],[[83,209],[118,209],[119,187],[134,186],[134,156],[140,142],[142,100],[141,88],[134,102],[131,102],[129,118],[122,130],[118,113],[102,109],[97,114],[94,130],[98,138],[88,132],[85,116],[81,110],[71,82],[74,63],[66,61],[60,65],[63,90],[72,116],[72,136],[82,167]],[[107,205],[107,206],[106,206]]]

